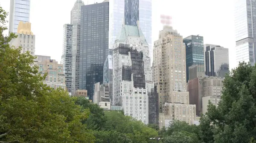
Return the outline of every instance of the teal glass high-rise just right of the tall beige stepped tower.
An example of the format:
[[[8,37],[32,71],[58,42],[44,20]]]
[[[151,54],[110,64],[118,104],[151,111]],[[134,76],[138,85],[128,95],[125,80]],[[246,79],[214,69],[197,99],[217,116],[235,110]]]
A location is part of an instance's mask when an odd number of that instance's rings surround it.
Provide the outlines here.
[[[191,35],[183,39],[186,45],[186,71],[192,64],[204,64],[204,37]],[[186,73],[186,82],[189,80],[189,72]]]

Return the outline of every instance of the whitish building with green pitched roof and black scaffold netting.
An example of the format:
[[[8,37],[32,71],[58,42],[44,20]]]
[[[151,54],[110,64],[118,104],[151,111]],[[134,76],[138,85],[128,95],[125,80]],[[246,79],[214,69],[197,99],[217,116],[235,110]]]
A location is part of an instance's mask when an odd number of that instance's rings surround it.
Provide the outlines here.
[[[148,123],[148,94],[154,92],[148,42],[137,26],[124,25],[113,45],[113,104]]]

